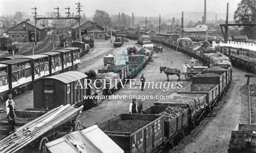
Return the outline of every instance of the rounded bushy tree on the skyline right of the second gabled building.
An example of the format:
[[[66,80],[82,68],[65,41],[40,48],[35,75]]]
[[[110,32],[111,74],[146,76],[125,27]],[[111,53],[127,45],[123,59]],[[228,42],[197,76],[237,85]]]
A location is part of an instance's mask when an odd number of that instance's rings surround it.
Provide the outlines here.
[[[100,26],[105,26],[110,24],[111,18],[105,11],[96,10],[95,15],[93,16],[93,21],[96,21]]]

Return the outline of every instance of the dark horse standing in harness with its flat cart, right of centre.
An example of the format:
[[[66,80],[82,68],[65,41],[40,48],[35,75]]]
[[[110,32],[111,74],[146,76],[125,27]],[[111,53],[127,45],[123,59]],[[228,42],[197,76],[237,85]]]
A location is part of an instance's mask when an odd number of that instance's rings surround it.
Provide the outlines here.
[[[193,68],[184,66],[183,67],[183,72],[180,72],[178,68],[169,68],[169,67],[160,67],[160,73],[163,71],[167,75],[167,81],[169,81],[169,75],[177,75],[178,81],[180,81],[180,74],[184,74],[185,78],[188,81],[192,80],[192,77],[200,72],[202,72],[204,69],[208,68],[208,66],[194,66]]]

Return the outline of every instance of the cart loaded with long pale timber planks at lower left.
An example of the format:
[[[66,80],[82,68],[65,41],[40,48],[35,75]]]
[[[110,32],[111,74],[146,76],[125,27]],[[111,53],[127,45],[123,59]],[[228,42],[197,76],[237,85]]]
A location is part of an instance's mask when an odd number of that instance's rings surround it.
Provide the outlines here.
[[[33,121],[23,125],[20,124],[22,127],[0,140],[0,152],[20,152],[23,148],[26,150],[28,144],[40,150],[44,144],[49,142],[48,138],[50,136],[55,139],[58,132],[80,130],[80,121],[76,118],[82,113],[82,107],[77,108],[70,104],[61,105],[47,113],[45,112],[45,114],[41,114]],[[29,115],[30,111],[27,111],[27,113]]]

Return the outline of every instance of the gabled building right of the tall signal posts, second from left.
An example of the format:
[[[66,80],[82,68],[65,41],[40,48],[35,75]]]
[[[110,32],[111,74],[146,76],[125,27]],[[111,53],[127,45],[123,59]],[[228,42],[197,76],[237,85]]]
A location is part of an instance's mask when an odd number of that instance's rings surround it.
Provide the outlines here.
[[[94,39],[105,39],[105,31],[104,28],[101,26],[97,25],[96,22],[87,20],[87,21],[82,21],[80,23],[80,30],[81,30],[81,35],[87,35],[91,38]],[[71,34],[72,38],[77,40],[78,39],[78,32],[79,32],[79,24],[77,23],[75,26],[71,27]]]

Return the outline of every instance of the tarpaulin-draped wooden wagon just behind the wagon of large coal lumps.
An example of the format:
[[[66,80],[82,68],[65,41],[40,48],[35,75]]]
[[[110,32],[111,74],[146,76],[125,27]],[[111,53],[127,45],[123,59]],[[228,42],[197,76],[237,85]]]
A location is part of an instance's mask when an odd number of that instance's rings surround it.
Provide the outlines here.
[[[172,94],[174,99],[162,99],[154,105],[189,108],[189,128],[193,128],[205,117],[207,97],[205,94]]]

